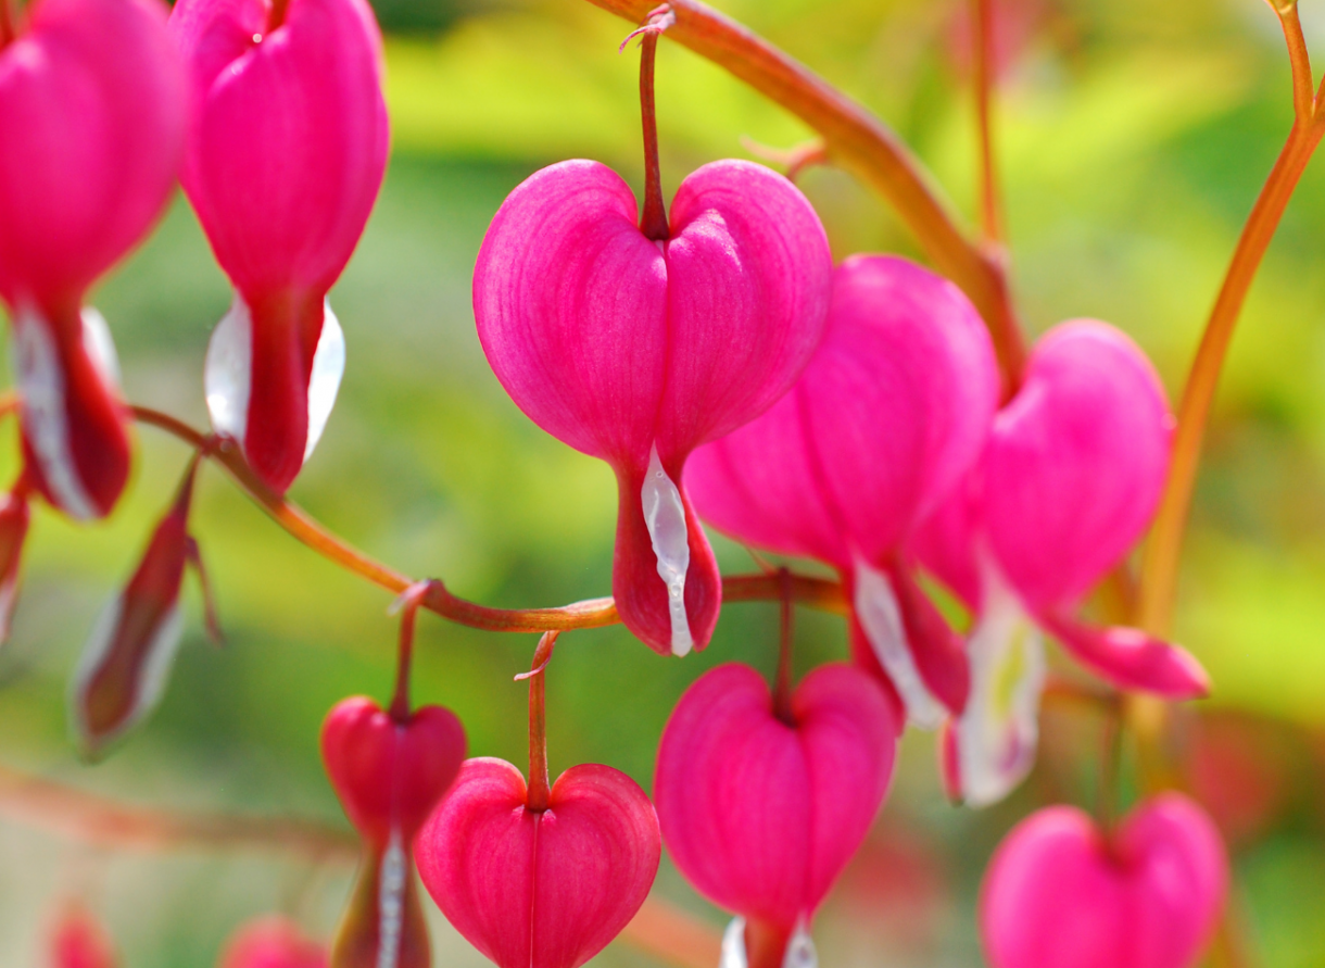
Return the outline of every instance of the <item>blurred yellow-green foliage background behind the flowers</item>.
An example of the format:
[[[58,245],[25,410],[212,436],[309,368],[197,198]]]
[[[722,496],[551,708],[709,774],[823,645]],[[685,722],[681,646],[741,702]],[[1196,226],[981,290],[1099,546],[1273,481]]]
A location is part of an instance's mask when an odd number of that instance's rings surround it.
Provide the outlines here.
[[[1109,320],[1151,353],[1177,395],[1242,221],[1291,123],[1275,17],[1259,0],[1000,3],[1008,13],[1036,13],[998,107],[1026,322],[1041,332],[1071,317]],[[971,103],[953,41],[959,0],[718,5],[877,110],[957,210],[973,211]],[[538,166],[591,156],[641,182],[636,60],[616,53],[629,25],[582,0],[382,0],[378,9],[394,30],[395,151],[368,231],[331,296],[348,369],[293,497],[396,568],[443,577],[457,594],[486,603],[606,594],[611,473],[542,434],[505,396],[474,337],[469,274],[488,220]],[[1325,49],[1325,19],[1308,27],[1310,42]],[[666,42],[657,97],[668,191],[698,163],[746,154],[743,145],[786,147],[810,137]],[[839,257],[861,249],[916,255],[905,231],[849,176],[812,170],[802,184]],[[1222,711],[1185,713],[1175,747],[1179,756],[1214,757],[1206,785],[1198,782],[1207,802],[1223,817],[1215,801],[1230,784],[1235,792],[1248,782],[1268,789],[1280,774],[1296,777],[1291,798],[1253,805],[1259,827],[1235,841],[1236,920],[1252,963],[1276,968],[1325,961],[1321,267],[1325,166],[1317,162],[1252,292],[1223,379],[1178,623],[1179,638],[1212,674],[1207,708]],[[204,423],[203,353],[228,301],[178,199],[95,293],[135,402]],[[12,427],[4,436],[0,454],[12,455]],[[388,597],[288,538],[215,471],[203,477],[195,532],[228,643],[204,640],[191,590],[188,634],[156,716],[106,762],[89,768],[74,758],[62,705],[69,670],[187,456],[150,428],[140,443],[136,480],[110,522],[78,528],[50,513],[36,517],[13,640],[0,655],[0,757],[142,804],[339,822],[317,731],[341,696],[386,696],[395,633],[384,615]],[[718,545],[725,570],[750,569],[741,549]],[[554,772],[603,761],[648,786],[659,732],[680,692],[718,662],[771,671],[774,629],[770,606],[731,606],[710,650],[685,662],[660,659],[620,629],[566,636],[549,674]],[[420,636],[417,700],[453,707],[474,753],[523,762],[525,690],[510,678],[527,664],[531,636],[427,617]],[[840,622],[800,617],[800,668],[843,654]],[[1238,770],[1251,766],[1223,740],[1203,739],[1216,735],[1206,732],[1208,723],[1234,711],[1238,723],[1268,723],[1279,737],[1235,731],[1253,737],[1243,758],[1265,766],[1253,781],[1240,778]],[[1032,780],[1008,804],[977,814],[942,802],[931,739],[909,737],[880,829],[824,914],[824,963],[977,964],[973,907],[988,851],[1039,802],[1088,804],[1097,747],[1090,716],[1047,713]],[[347,875],[264,857],[89,857],[8,823],[0,825],[0,849],[5,967],[38,963],[33,926],[61,890],[94,898],[126,964],[156,968],[211,964],[241,918],[272,907],[327,931]],[[659,890],[719,923],[674,871],[664,870]],[[440,963],[481,964],[440,923],[437,936]],[[602,963],[640,959],[610,949]]]

